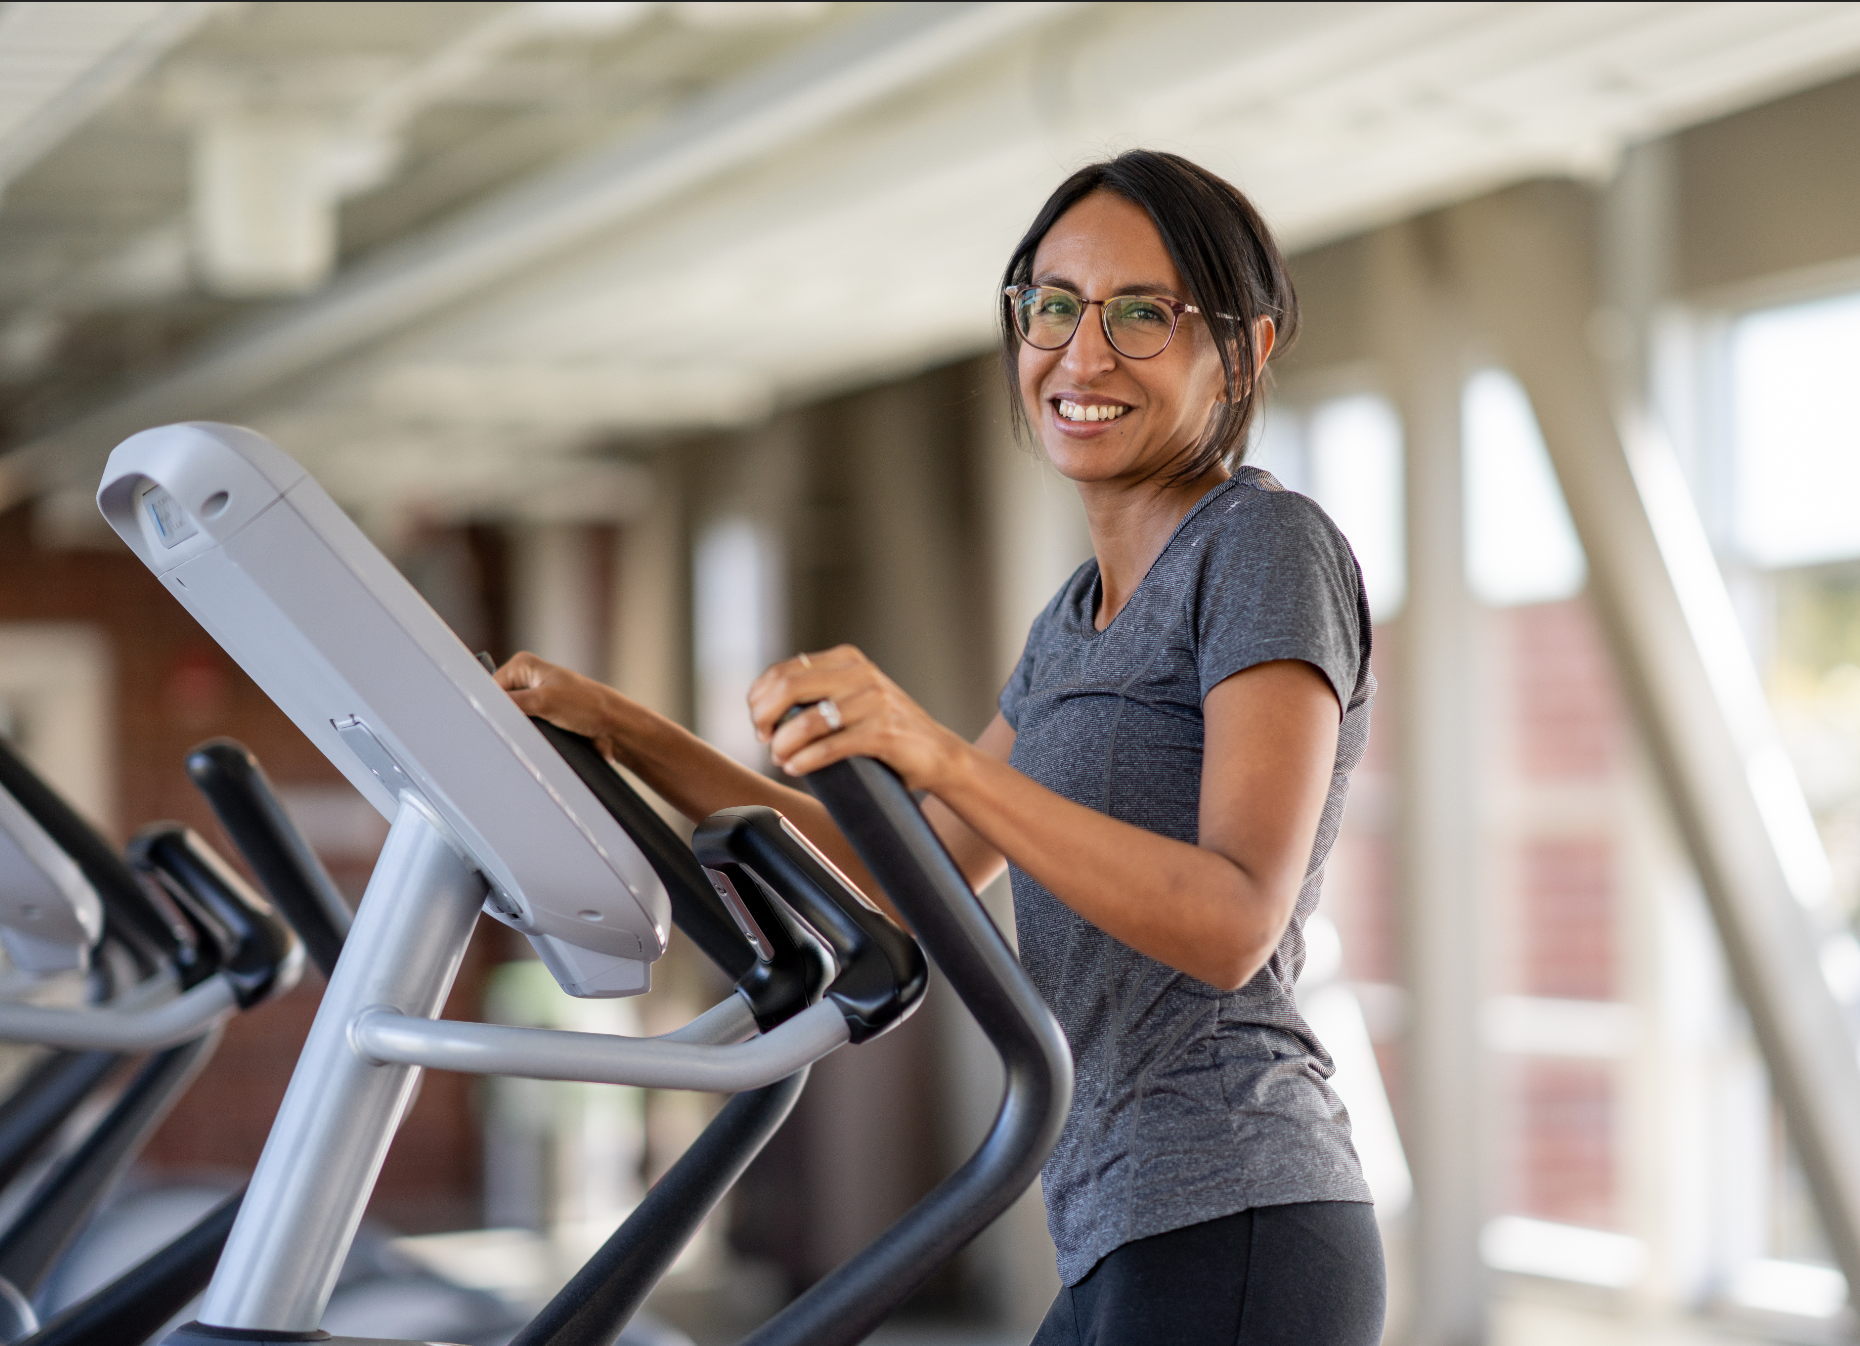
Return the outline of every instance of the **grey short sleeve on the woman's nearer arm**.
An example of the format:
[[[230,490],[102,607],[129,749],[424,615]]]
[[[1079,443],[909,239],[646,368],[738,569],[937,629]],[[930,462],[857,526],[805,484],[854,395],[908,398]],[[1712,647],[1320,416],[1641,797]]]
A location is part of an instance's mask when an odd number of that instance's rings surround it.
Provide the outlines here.
[[[1222,513],[1194,591],[1202,697],[1256,664],[1295,658],[1330,680],[1347,712],[1367,680],[1371,634],[1350,545],[1315,500],[1276,482],[1239,487]]]

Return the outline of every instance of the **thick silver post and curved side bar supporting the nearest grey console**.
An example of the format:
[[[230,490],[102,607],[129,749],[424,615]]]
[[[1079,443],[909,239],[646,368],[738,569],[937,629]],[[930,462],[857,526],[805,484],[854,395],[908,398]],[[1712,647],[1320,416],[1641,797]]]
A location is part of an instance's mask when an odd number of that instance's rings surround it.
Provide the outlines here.
[[[772,1034],[738,996],[660,1039],[437,1019],[478,911],[484,876],[407,796],[381,848],[342,959],[277,1110],[201,1322],[309,1333],[413,1095],[418,1067],[660,1089],[750,1089],[848,1037],[831,1004]]]

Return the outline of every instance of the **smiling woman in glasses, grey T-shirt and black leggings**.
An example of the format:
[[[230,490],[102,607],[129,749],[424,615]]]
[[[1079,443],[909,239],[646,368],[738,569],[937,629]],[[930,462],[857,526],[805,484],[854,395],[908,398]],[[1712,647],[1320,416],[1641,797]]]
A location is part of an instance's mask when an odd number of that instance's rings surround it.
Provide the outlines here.
[[[1016,405],[1092,560],[973,744],[852,647],[776,664],[750,714],[789,775],[889,762],[975,887],[1012,870],[1021,961],[1077,1063],[1036,1342],[1371,1346],[1369,1188],[1293,1002],[1369,731],[1369,612],[1324,513],[1231,467],[1296,329],[1283,258],[1235,188],[1133,151],[1053,193],[1004,283]],[[811,796],[534,656],[498,680],[690,818],[768,803],[869,881]]]

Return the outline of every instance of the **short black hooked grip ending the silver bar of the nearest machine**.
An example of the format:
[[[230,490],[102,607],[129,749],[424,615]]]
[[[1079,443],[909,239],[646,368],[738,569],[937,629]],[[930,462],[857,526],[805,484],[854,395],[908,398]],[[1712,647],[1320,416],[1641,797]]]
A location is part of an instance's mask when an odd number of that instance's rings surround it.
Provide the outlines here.
[[[833,950],[826,995],[854,1043],[895,1028],[923,1002],[930,970],[917,941],[872,907],[779,812],[724,809],[699,824],[692,850],[744,898],[766,883]]]

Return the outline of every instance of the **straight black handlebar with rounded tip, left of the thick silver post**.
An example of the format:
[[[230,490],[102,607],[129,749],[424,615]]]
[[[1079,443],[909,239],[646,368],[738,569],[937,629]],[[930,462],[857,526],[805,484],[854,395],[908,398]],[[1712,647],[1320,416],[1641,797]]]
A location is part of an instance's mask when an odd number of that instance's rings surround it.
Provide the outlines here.
[[[327,978],[348,937],[350,909],[277,801],[259,759],[231,738],[210,738],[188,753],[188,779]]]

